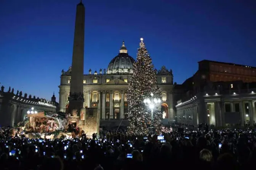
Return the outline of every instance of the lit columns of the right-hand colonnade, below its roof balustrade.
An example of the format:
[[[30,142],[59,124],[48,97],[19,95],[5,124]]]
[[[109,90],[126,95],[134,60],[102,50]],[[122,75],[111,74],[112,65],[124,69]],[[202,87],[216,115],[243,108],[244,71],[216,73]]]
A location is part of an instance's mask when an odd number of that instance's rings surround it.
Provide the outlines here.
[[[177,108],[177,121],[185,124],[207,123],[214,126],[226,126],[225,113],[239,113],[240,126],[256,123],[255,100],[198,102]],[[230,110],[226,107],[230,105]]]

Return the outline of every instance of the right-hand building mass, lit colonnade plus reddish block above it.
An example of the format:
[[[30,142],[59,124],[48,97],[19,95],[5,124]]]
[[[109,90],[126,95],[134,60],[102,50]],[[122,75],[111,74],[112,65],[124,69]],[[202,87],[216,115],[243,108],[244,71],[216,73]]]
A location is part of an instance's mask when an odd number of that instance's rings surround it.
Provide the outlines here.
[[[214,126],[256,123],[256,69],[203,60],[194,76],[174,85],[178,123]]]

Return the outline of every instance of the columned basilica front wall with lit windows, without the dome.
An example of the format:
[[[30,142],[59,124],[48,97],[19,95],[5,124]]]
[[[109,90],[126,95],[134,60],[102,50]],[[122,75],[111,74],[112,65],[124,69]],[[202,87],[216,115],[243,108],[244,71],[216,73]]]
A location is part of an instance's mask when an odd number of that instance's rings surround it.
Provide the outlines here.
[[[162,77],[166,77],[165,83],[162,83]],[[168,75],[158,76],[157,79],[162,94],[166,94],[166,99],[162,103],[168,105],[167,117],[169,120],[173,120],[173,82],[171,77],[172,76]],[[125,100],[125,95],[128,90],[128,82],[130,81],[129,75],[85,75],[84,80],[84,107],[98,108],[100,118],[103,120],[109,118],[123,119],[128,116],[128,102]],[[98,81],[93,82],[93,80]],[[59,89],[60,111],[66,112],[66,106],[69,104],[70,76],[61,76],[61,85],[59,86]],[[94,101],[94,94],[96,96],[96,101]],[[116,94],[118,94],[119,100],[115,99]],[[107,100],[108,96],[109,100]],[[119,109],[118,118],[115,117],[115,109]],[[107,113],[109,113],[109,115]]]

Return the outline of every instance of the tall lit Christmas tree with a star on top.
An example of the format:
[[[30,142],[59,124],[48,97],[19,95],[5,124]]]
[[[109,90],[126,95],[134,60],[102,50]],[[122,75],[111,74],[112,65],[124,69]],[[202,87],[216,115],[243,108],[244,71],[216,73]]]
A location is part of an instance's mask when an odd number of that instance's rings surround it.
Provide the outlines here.
[[[152,59],[147,52],[143,38],[139,44],[137,61],[133,65],[133,75],[131,76],[127,100],[129,112],[128,131],[131,134],[146,134],[149,127],[155,128],[156,132],[161,131],[162,114],[160,107],[154,107],[154,120],[151,120],[151,109],[144,103],[145,99],[160,98],[160,88],[157,84],[157,75],[152,64]]]

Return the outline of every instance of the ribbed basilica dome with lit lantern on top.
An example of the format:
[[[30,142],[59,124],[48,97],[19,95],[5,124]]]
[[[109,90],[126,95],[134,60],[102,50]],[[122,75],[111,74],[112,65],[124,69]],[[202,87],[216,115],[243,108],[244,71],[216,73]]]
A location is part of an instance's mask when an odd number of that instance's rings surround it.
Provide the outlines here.
[[[122,47],[119,50],[119,54],[113,58],[107,68],[107,74],[119,74],[126,73],[131,74],[133,69],[133,63],[135,60],[133,57],[128,55],[127,49],[125,47],[125,42],[123,42]]]

